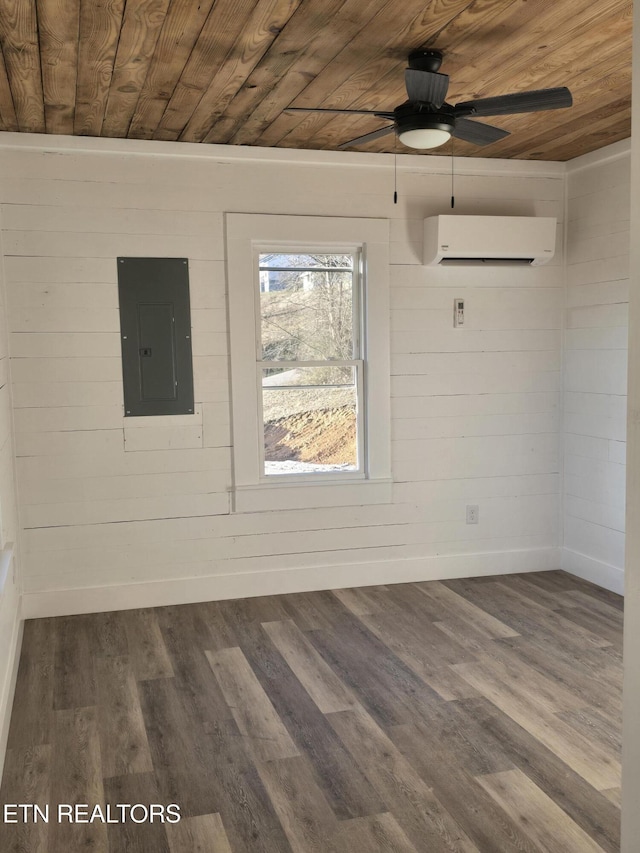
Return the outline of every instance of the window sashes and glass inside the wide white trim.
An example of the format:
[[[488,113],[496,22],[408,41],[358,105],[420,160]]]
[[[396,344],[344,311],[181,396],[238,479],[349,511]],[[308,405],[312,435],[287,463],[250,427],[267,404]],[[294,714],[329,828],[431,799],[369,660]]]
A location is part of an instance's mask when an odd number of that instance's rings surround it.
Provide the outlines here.
[[[262,475],[361,473],[360,251],[258,250],[255,262]]]

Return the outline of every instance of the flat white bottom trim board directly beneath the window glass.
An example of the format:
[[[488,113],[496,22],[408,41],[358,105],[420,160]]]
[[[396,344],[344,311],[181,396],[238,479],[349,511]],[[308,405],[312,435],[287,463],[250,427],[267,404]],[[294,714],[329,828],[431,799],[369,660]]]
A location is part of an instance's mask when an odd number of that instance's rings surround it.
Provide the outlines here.
[[[233,512],[273,512],[287,509],[322,509],[332,506],[388,504],[391,480],[359,480],[327,483],[260,483],[236,486]]]

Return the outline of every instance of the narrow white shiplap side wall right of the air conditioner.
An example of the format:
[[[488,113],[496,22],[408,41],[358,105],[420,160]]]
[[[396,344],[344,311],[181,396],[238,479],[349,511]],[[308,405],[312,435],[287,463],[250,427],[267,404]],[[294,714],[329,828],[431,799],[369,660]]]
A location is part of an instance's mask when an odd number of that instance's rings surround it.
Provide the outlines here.
[[[564,357],[564,551],[623,591],[629,141],[569,164]]]

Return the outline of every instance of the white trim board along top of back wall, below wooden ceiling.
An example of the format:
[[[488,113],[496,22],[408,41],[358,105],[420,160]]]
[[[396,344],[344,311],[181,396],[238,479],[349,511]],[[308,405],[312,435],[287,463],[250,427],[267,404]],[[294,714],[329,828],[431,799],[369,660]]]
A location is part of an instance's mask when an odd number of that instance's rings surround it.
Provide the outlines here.
[[[148,139],[103,139],[89,136],[57,136],[55,134],[0,132],[0,148],[17,151],[36,151],[44,154],[62,153],[144,155],[171,158],[212,160],[217,163],[233,161],[290,163],[300,165],[363,166],[394,168],[394,154],[363,154],[357,151],[302,150],[295,148],[262,148],[260,146],[202,145],[194,142],[160,142]],[[426,162],[425,162],[426,161]],[[399,170],[451,173],[451,158],[430,155],[398,154]],[[488,157],[457,158],[458,175],[506,175],[563,178],[566,163],[555,160],[502,160]]]

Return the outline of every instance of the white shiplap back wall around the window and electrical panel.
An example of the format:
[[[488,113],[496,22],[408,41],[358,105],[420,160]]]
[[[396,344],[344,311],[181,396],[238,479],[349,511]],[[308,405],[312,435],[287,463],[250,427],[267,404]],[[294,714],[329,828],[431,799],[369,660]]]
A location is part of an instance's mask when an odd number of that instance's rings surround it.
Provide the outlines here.
[[[558,565],[562,164],[457,161],[458,213],[558,217],[552,264],[429,269],[448,158],[394,206],[388,155],[2,144],[27,614]],[[229,513],[225,211],[391,219],[391,506]],[[118,255],[189,258],[193,418],[123,418]]]

